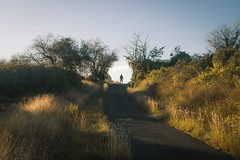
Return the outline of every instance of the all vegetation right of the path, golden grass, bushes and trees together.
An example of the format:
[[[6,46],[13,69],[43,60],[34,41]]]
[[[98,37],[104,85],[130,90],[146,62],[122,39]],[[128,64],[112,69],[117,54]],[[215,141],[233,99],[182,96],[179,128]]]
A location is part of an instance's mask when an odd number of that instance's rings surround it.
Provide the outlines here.
[[[212,47],[208,54],[190,56],[176,47],[170,60],[158,61],[158,69],[143,70],[145,64],[157,62],[145,63],[144,58],[138,59],[141,56],[135,57],[143,64],[135,70],[144,72],[135,72],[129,88],[151,116],[236,157],[240,157],[239,31],[239,23],[213,31],[208,37]],[[139,55],[150,54],[147,48],[139,51],[146,51]]]

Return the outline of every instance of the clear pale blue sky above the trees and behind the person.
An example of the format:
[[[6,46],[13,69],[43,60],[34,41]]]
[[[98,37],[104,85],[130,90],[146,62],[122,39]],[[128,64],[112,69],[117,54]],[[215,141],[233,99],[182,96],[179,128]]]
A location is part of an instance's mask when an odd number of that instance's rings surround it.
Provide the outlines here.
[[[223,24],[240,20],[240,0],[0,0],[0,58],[26,50],[32,40],[50,32],[75,40],[100,38],[117,49],[114,80],[131,78],[123,47],[133,33],[149,35],[150,47],[166,46],[204,53],[206,37]]]

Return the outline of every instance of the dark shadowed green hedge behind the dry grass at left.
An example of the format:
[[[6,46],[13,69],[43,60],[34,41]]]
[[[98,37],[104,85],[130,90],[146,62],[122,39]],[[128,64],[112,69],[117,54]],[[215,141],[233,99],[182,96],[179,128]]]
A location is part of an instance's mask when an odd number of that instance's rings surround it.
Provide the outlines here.
[[[80,82],[77,73],[58,67],[15,66],[0,69],[0,97],[64,92]]]

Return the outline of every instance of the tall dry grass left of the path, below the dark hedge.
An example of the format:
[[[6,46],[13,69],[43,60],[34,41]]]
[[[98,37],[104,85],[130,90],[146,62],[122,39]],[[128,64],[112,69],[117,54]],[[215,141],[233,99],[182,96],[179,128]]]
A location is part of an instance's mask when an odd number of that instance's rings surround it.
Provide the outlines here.
[[[127,135],[109,124],[96,91],[86,87],[85,94],[45,94],[21,102],[0,119],[0,159],[132,159]]]

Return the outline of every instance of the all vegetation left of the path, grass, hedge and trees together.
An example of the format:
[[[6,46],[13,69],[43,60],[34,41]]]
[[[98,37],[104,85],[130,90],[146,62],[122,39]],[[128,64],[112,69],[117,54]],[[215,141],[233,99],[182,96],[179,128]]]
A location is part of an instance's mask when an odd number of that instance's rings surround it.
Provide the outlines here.
[[[132,159],[128,135],[103,109],[115,52],[98,40],[38,37],[0,61],[0,159]]]

